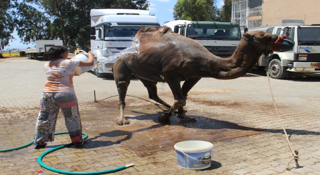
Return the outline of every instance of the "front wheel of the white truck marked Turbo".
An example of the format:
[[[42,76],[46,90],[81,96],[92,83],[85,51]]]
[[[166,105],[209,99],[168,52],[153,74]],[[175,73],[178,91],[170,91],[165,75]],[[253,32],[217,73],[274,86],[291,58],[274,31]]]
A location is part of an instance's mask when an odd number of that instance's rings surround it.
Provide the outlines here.
[[[286,67],[281,66],[279,59],[272,59],[268,64],[268,73],[271,78],[281,79],[288,75]]]

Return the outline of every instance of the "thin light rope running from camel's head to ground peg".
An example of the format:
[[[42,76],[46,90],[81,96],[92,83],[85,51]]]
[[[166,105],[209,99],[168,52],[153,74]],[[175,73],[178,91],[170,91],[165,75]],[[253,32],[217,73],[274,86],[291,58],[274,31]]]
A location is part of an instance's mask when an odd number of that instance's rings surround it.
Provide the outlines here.
[[[290,140],[289,140],[288,135],[287,135],[287,133],[286,133],[286,130],[285,130],[284,126],[283,126],[282,120],[281,120],[281,118],[280,118],[280,116],[279,116],[278,109],[277,109],[277,107],[276,107],[276,105],[275,105],[275,101],[274,101],[274,97],[273,97],[273,93],[272,93],[272,89],[271,89],[271,85],[270,85],[270,77],[269,77],[268,71],[266,71],[266,75],[267,75],[267,77],[268,77],[268,85],[269,85],[270,93],[271,93],[271,96],[272,96],[272,102],[273,102],[273,106],[274,106],[275,111],[276,111],[276,115],[277,115],[277,117],[278,117],[278,119],[279,119],[279,121],[280,121],[280,124],[281,124],[282,129],[283,129],[284,134],[285,134],[286,141],[288,142],[288,145],[289,145],[290,150],[291,150],[291,152],[292,152],[292,158],[291,158],[291,159],[289,160],[289,162],[287,163],[285,169],[287,169],[287,170],[290,170],[290,169],[291,169],[291,168],[289,167],[289,163],[290,163],[293,159],[294,159],[294,161],[295,161],[295,168],[298,168],[298,167],[299,167],[299,164],[298,164],[298,151],[297,151],[297,150],[294,150],[294,151],[293,151],[293,149],[292,149],[292,146],[291,146],[291,144],[290,144]]]

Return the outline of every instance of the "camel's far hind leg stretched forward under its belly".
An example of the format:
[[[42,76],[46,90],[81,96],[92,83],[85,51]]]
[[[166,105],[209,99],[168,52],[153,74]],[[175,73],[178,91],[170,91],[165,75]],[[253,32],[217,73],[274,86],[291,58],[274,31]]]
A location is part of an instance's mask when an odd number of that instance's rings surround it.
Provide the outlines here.
[[[150,99],[153,99],[154,101],[164,105],[165,107],[167,108],[170,108],[171,106],[164,102],[157,94],[157,88],[156,88],[156,84],[157,82],[155,81],[149,81],[149,80],[146,80],[146,79],[143,79],[139,76],[136,76],[142,83],[143,85],[146,87],[146,89],[148,90],[148,94],[149,94],[149,98]]]

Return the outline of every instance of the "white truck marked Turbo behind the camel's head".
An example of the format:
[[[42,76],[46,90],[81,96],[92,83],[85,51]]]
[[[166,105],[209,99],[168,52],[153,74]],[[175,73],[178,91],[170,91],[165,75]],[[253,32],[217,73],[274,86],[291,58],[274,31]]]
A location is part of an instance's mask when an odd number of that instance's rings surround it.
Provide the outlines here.
[[[288,75],[288,72],[320,72],[320,24],[279,24],[249,29],[249,31],[251,30],[288,35],[294,40],[292,50],[275,51],[270,59],[265,59],[262,54],[258,59],[256,65],[267,67],[272,78],[284,78]]]

